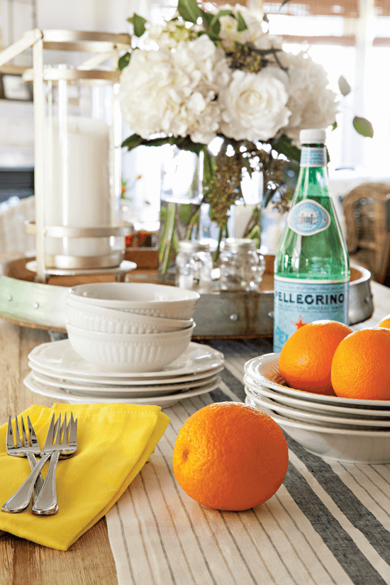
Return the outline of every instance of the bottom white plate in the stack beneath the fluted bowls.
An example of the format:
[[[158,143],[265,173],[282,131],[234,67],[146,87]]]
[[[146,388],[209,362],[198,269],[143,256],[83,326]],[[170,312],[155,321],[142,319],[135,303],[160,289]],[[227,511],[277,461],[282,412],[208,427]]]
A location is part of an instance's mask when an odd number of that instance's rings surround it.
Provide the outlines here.
[[[101,403],[101,402],[118,402],[123,404],[150,404],[154,406],[161,406],[161,408],[168,408],[168,406],[172,406],[173,404],[184,400],[186,398],[192,398],[193,396],[200,396],[201,394],[206,394],[207,392],[211,392],[218,388],[221,384],[221,378],[219,376],[216,377],[216,380],[211,383],[207,384],[206,386],[201,386],[201,388],[193,388],[186,392],[177,392],[177,394],[169,394],[166,396],[147,396],[143,398],[122,398],[122,399],[106,399],[106,398],[99,398],[99,396],[77,396],[76,394],[69,394],[65,390],[54,390],[51,386],[46,386],[41,382],[38,382],[33,378],[33,373],[29,372],[26,378],[23,380],[23,384],[27,386],[32,392],[36,394],[41,394],[42,396],[48,396],[49,398],[56,399],[56,400],[65,400],[70,404],[94,404],[94,403]]]

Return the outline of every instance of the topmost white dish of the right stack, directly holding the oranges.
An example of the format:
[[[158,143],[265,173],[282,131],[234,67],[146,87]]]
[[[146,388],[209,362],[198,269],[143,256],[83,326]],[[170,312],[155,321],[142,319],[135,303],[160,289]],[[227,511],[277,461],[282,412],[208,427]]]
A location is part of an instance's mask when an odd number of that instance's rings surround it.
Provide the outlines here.
[[[359,400],[352,398],[340,398],[339,396],[325,396],[325,394],[314,394],[312,392],[304,392],[303,390],[296,390],[290,388],[279,372],[279,353],[267,353],[254,357],[244,365],[245,374],[250,378],[276,390],[287,396],[294,396],[296,399],[303,399],[314,402],[322,402],[326,404],[335,404],[336,406],[352,406],[377,408],[378,410],[389,410],[390,400]]]

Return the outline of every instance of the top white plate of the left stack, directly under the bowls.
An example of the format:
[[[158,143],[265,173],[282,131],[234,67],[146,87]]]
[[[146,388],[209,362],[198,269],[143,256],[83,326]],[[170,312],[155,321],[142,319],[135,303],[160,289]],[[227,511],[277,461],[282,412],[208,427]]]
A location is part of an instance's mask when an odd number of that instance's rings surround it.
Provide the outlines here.
[[[172,378],[184,374],[206,372],[222,366],[224,357],[213,347],[191,341],[186,351],[176,360],[165,366],[161,372],[102,372],[93,364],[82,359],[72,348],[68,339],[50,341],[37,345],[28,355],[30,362],[37,366],[50,369],[57,376],[72,374],[87,379],[143,379]]]

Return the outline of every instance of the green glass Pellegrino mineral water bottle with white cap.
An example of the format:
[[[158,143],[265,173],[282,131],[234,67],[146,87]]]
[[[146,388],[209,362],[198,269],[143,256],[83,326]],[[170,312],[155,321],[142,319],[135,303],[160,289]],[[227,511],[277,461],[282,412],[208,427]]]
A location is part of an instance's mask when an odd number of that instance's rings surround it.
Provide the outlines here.
[[[328,189],[325,130],[301,130],[301,167],[274,264],[274,352],[306,323],[348,323],[350,264]]]

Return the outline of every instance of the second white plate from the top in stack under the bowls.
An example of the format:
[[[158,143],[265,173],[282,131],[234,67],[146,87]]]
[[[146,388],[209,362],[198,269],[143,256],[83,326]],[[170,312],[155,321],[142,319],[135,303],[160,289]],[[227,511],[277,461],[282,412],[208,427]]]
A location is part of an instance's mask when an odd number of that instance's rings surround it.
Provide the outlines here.
[[[212,374],[218,374],[222,372],[223,366],[211,368],[206,372],[188,374],[187,376],[172,376],[171,378],[141,378],[141,379],[126,379],[126,378],[86,378],[85,376],[77,376],[72,374],[58,374],[52,369],[48,369],[42,366],[38,366],[33,362],[28,362],[28,366],[34,371],[39,372],[43,376],[52,379],[56,382],[57,386],[60,386],[63,382],[68,384],[82,384],[83,386],[150,386],[151,384],[158,384],[164,386],[165,384],[179,384],[180,382],[201,380],[210,377]],[[158,373],[158,372],[157,372]]]

